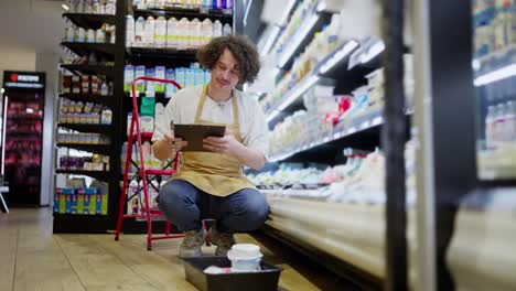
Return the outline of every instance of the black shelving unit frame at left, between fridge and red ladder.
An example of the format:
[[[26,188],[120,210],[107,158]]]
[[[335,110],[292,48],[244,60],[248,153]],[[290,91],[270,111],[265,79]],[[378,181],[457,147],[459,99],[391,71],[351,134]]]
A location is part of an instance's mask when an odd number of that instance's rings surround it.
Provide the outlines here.
[[[58,143],[56,149],[67,148],[109,157],[109,171],[84,171],[56,169],[56,175],[84,175],[107,183],[107,215],[80,215],[54,213],[54,233],[107,233],[115,229],[118,198],[120,195],[119,164],[120,164],[120,139],[121,107],[123,98],[123,65],[125,65],[125,33],[127,13],[127,0],[117,0],[116,14],[88,14],[88,13],[64,13],[75,25],[87,29],[99,29],[103,23],[116,26],[116,43],[78,43],[63,42],[61,46],[76,53],[79,56],[89,56],[96,53],[105,58],[103,63],[95,64],[62,64],[61,67],[74,75],[103,75],[114,84],[112,96],[97,96],[92,94],[61,94],[60,98],[75,101],[92,101],[101,104],[112,110],[111,125],[79,125],[79,123],[55,123],[56,128],[72,129],[79,132],[101,133],[110,139],[110,144],[79,144]]]

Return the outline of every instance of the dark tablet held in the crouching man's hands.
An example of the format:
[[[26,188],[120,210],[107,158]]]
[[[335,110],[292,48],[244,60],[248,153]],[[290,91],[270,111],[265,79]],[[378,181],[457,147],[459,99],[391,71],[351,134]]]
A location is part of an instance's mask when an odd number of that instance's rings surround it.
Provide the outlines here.
[[[225,126],[205,126],[205,125],[174,125],[174,137],[182,138],[189,142],[189,146],[181,149],[187,151],[209,151],[203,148],[203,139],[207,137],[224,137]]]

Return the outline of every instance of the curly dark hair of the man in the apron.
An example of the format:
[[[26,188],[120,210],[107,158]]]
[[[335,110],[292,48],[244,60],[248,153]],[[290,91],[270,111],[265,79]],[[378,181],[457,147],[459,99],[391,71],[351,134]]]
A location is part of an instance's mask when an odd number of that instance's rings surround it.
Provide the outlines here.
[[[227,48],[238,64],[240,84],[256,80],[260,71],[260,58],[255,45],[245,36],[227,35],[213,39],[197,52],[197,60],[204,68],[213,69],[218,58]]]

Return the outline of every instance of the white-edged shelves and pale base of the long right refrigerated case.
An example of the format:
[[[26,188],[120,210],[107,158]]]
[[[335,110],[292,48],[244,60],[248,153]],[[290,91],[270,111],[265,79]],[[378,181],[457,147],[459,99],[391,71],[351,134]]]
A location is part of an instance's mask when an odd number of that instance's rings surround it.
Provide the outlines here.
[[[318,11],[322,2],[324,1],[315,4],[313,17],[309,14],[303,18],[298,32],[290,37],[290,43],[284,44],[278,53],[273,50],[270,52],[277,54],[278,68],[290,71],[294,58],[312,41],[314,33],[329,24],[332,14]],[[280,32],[280,35],[283,33],[286,32]],[[277,41],[278,39],[280,37],[277,37]],[[318,64],[312,65],[311,71],[295,85],[283,84],[289,89],[273,104],[268,104],[269,107],[265,110],[269,128],[272,129],[286,117],[303,109],[303,94],[312,86],[334,84],[334,95],[343,95],[366,85],[365,76],[383,65],[379,62],[383,50],[372,51],[368,45],[369,43],[365,41],[346,40],[321,57]],[[278,45],[272,46],[278,47]],[[365,57],[365,54],[369,55]],[[356,60],[364,62],[356,63]],[[406,115],[409,121],[411,110]],[[343,155],[345,148],[364,151],[383,148],[384,125],[383,105],[368,107],[344,121],[341,120],[326,131],[319,132],[316,137],[302,137],[303,141],[292,142],[293,146],[283,146],[280,152],[271,152],[269,157],[271,164],[266,169],[273,169],[278,163],[295,163],[292,165],[294,169],[299,165],[341,164],[345,161]],[[406,140],[408,138],[407,130]],[[299,183],[302,184],[303,181]],[[283,191],[281,185],[278,187],[280,188],[264,190],[271,211],[271,219],[266,222],[264,230],[365,289],[379,289],[381,281],[388,276],[384,270],[387,263],[385,204],[327,202],[321,195],[287,197],[276,195]],[[321,192],[323,187],[319,185],[313,191]],[[363,235],[365,229],[368,229],[367,235]]]

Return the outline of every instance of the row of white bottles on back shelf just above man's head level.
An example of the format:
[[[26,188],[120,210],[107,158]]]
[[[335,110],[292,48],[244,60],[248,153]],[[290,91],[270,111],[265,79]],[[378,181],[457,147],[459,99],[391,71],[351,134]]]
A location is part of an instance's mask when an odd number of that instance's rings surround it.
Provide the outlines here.
[[[198,48],[213,37],[233,34],[232,25],[222,24],[221,21],[206,18],[204,20],[186,18],[165,19],[139,17],[136,21],[132,15],[126,18],[126,46],[128,47],[168,47],[168,48]]]

